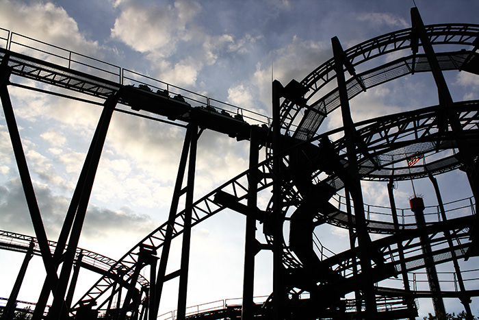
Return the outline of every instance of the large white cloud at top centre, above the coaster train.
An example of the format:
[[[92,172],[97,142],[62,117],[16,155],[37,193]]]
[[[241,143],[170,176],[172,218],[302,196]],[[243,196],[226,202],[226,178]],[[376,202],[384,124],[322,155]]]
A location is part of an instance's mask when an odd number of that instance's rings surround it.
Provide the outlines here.
[[[121,12],[112,38],[143,53],[153,77],[192,90],[197,90],[202,71],[212,72],[207,67],[228,68],[232,59],[250,54],[261,39],[248,33],[235,36],[209,29],[202,19],[207,19],[208,13],[195,1],[150,6],[129,1],[118,8]]]

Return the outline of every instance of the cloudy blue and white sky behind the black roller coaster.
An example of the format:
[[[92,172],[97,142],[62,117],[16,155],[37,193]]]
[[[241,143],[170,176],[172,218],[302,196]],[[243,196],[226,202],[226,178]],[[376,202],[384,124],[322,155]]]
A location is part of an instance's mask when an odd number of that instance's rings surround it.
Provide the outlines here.
[[[426,25],[479,23],[479,1],[415,4]],[[272,78],[284,85],[303,79],[332,57],[334,36],[347,49],[411,27],[413,5],[412,0],[0,0],[0,27],[270,116]],[[454,101],[479,99],[478,77],[454,73],[447,79]],[[354,99],[353,120],[433,106],[437,92],[428,90],[431,84],[430,75],[417,75],[368,90]],[[56,240],[101,108],[9,90],[45,229]],[[340,124],[333,115],[324,126],[332,130]],[[34,236],[3,112],[0,134],[0,229]],[[79,247],[118,259],[166,221],[184,135],[182,127],[114,114]],[[248,168],[248,143],[206,131],[197,161],[196,199]],[[461,173],[438,179],[448,182],[444,201],[471,195]],[[427,194],[431,186],[419,181],[416,188]],[[388,204],[385,185],[364,184],[363,193],[366,203]],[[398,208],[407,208],[410,194],[411,185],[400,184]],[[268,199],[259,201],[266,206]],[[324,226],[319,233],[336,252],[348,249],[346,230]],[[235,212],[221,212],[194,228],[188,305],[241,297],[243,246],[244,217]],[[174,258],[178,248],[174,243]],[[0,297],[10,295],[22,260],[21,254],[0,252]],[[261,252],[256,262],[255,295],[269,295],[271,255]],[[41,270],[41,260],[34,258],[18,299],[36,301]],[[81,276],[83,293],[96,275]],[[174,286],[173,281],[166,288],[174,293]],[[173,296],[162,301],[160,314],[176,308]],[[462,310],[456,300],[446,300],[448,311]],[[428,299],[419,306],[421,316],[432,310]],[[473,312],[479,315],[479,308]]]

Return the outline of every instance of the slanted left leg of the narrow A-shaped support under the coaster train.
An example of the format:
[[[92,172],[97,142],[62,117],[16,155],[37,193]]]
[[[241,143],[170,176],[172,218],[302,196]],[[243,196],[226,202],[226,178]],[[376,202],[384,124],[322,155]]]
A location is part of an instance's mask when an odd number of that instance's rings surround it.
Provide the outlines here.
[[[174,184],[173,198],[170,206],[170,214],[168,215],[168,225],[166,226],[165,240],[161,249],[161,257],[159,258],[159,267],[157,273],[157,284],[155,293],[155,310],[159,310],[159,302],[161,293],[163,292],[164,278],[166,273],[166,265],[168,264],[168,256],[170,255],[170,247],[173,236],[174,217],[178,211],[178,204],[181,195],[183,195],[183,178],[185,177],[185,169],[188,160],[188,151],[192,141],[192,126],[188,126],[185,134],[185,141],[181,151],[180,162],[178,166],[177,180]]]

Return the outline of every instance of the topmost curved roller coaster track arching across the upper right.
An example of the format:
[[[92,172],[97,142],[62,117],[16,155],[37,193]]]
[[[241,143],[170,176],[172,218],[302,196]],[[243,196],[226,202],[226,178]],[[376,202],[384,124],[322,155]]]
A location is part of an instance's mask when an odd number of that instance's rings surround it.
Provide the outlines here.
[[[475,49],[477,49],[478,25],[428,25],[426,32],[432,45],[461,46],[461,51],[438,54],[441,69],[465,70],[467,63],[471,62],[473,58],[477,59]],[[354,66],[359,66],[363,62],[387,53],[411,50],[413,49],[411,44],[415,42],[417,42],[417,36],[413,29],[402,29],[362,42],[344,51],[346,60],[350,64],[348,71],[354,71]],[[473,49],[471,51],[463,50],[465,47]],[[347,83],[348,99],[352,99],[368,88],[398,77],[428,71],[430,71],[430,66],[425,56],[413,53],[411,56],[400,58],[358,75],[354,74]],[[477,71],[475,72],[477,73]],[[335,79],[333,58],[318,66],[305,79],[302,79],[300,83],[308,89],[305,101],[309,103],[309,106],[300,106],[287,99],[283,102],[281,105],[281,127],[286,134],[292,134],[301,140],[307,140],[314,136],[324,118],[339,107],[337,88],[318,97],[320,90]],[[302,111],[304,111],[304,116],[301,117]],[[298,125],[297,128],[295,124]]]

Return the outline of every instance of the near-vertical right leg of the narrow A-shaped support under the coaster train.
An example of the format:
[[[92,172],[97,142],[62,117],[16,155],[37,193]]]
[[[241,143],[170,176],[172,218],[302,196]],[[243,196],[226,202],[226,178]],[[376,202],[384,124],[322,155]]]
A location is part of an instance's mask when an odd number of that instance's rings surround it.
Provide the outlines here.
[[[186,296],[188,286],[188,271],[190,268],[190,245],[192,225],[192,205],[194,195],[194,175],[196,170],[196,147],[198,145],[198,125],[191,123],[190,160],[186,186],[185,221],[183,225],[183,247],[181,249],[181,272],[178,293],[178,320],[184,320],[186,315]]]

